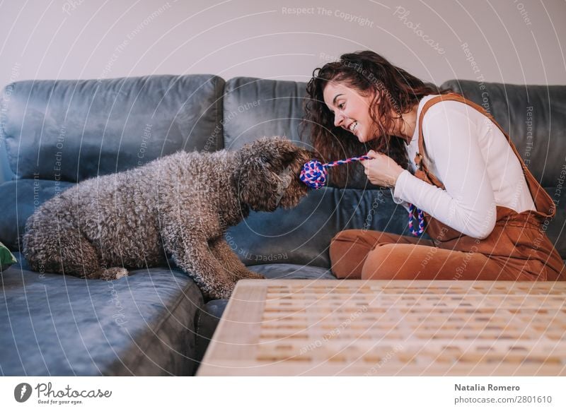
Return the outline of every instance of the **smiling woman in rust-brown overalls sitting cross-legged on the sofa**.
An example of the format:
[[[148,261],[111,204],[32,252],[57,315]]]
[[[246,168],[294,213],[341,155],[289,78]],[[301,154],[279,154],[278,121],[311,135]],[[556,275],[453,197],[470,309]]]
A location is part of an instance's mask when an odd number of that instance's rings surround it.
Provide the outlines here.
[[[342,231],[330,244],[338,278],[565,280],[541,230],[555,205],[482,107],[369,51],[317,68],[307,92],[305,124],[320,156],[371,149],[369,181],[420,208],[432,238]],[[335,181],[345,171],[333,170]]]

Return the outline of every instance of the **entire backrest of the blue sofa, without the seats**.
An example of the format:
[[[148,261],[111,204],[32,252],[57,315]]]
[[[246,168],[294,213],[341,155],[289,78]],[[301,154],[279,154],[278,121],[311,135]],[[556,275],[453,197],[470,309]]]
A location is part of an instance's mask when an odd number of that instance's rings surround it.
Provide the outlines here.
[[[18,251],[28,216],[72,181],[135,167],[180,149],[236,149],[262,136],[284,135],[310,148],[308,138],[301,141],[299,136],[305,86],[258,78],[224,83],[205,75],[8,86],[0,106],[0,137],[16,180],[0,185],[0,242]],[[495,119],[511,130],[519,153],[561,205],[545,230],[564,258],[566,198],[560,179],[565,175],[566,87],[470,81],[442,85],[447,86],[480,105],[487,98]],[[151,131],[145,136],[148,124]],[[57,162],[61,170],[54,168]],[[71,182],[64,185],[57,178]],[[311,191],[291,210],[251,213],[229,230],[229,244],[248,264],[329,267],[328,245],[340,230],[407,234],[407,213],[393,203],[388,190],[357,177],[350,183]]]

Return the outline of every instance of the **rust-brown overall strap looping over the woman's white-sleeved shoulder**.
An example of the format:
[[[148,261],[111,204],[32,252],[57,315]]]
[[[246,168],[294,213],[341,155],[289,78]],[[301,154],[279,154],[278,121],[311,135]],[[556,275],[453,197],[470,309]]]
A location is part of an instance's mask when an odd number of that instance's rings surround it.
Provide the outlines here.
[[[423,155],[424,153],[426,153],[426,151],[424,150],[424,138],[422,136],[422,119],[424,118],[424,114],[432,105],[435,105],[438,102],[443,102],[443,101],[462,102],[478,110],[478,112],[485,115],[488,119],[492,121],[493,124],[497,126],[497,128],[503,133],[505,138],[507,138],[507,143],[509,143],[509,145],[513,150],[513,153],[515,153],[517,159],[519,160],[519,163],[521,164],[527,182],[527,186],[529,186],[529,191],[531,192],[531,196],[533,197],[533,201],[536,206],[536,210],[539,213],[542,213],[545,218],[552,218],[556,213],[555,203],[553,202],[552,198],[550,198],[550,196],[545,191],[545,189],[543,189],[541,184],[538,183],[538,181],[533,176],[529,168],[526,167],[525,162],[523,161],[521,155],[519,155],[519,152],[517,151],[514,143],[511,141],[509,134],[507,134],[507,132],[504,131],[502,126],[499,126],[499,124],[497,123],[497,121],[495,121],[492,115],[486,112],[483,107],[475,104],[474,102],[471,102],[470,100],[466,100],[466,98],[462,97],[459,94],[451,93],[451,94],[439,95],[437,97],[432,97],[430,100],[424,103],[424,106],[421,109],[419,116],[419,141],[418,141],[419,151],[415,157],[415,163],[417,165],[417,168],[419,168],[420,170],[422,170],[422,172],[424,172],[424,175],[429,179],[429,181],[431,181],[432,184],[434,184],[435,186],[444,189],[444,184],[442,184],[441,181],[439,181],[439,179],[434,174],[429,172],[427,165],[424,164],[424,162],[422,161]]]

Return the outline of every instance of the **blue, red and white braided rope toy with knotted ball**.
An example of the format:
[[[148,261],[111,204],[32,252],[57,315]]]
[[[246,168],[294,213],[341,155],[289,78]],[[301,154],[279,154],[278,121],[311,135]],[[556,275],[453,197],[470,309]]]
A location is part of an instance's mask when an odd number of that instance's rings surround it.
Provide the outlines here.
[[[369,159],[370,157],[368,155],[362,155],[360,157],[350,157],[345,160],[337,160],[333,162],[327,162],[325,164],[316,159],[313,159],[303,165],[299,179],[301,179],[304,184],[311,187],[311,189],[322,189],[328,181],[328,168],[336,167],[337,165],[348,164],[350,162]],[[419,230],[415,230],[412,227],[412,220],[415,215],[415,210],[417,212],[417,219],[419,221]],[[409,204],[409,231],[415,237],[424,232],[424,215],[422,213],[422,210],[420,210],[420,208],[416,208],[415,205],[412,204]]]

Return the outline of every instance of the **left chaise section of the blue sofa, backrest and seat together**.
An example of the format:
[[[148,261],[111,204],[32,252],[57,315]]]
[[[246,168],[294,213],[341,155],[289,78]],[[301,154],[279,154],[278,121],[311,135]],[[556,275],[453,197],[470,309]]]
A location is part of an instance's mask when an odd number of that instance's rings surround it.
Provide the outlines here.
[[[74,181],[178,150],[221,149],[223,90],[224,80],[208,75],[8,85],[0,141],[15,175],[0,184],[0,241],[20,251],[28,216]],[[16,258],[20,265],[1,273],[1,374],[194,373],[203,298],[185,273],[82,280],[33,273]]]

